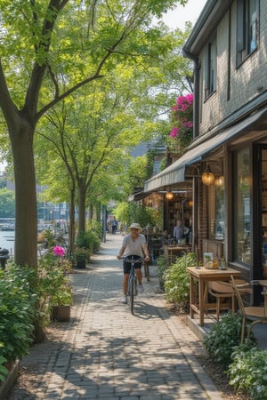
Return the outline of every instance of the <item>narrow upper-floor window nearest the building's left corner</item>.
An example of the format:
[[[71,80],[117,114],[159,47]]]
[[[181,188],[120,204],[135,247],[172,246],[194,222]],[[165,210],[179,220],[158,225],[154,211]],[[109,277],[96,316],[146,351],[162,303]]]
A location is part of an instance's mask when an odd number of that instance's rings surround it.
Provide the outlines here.
[[[205,98],[216,89],[217,76],[217,42],[212,40],[206,45],[206,68],[205,68]]]

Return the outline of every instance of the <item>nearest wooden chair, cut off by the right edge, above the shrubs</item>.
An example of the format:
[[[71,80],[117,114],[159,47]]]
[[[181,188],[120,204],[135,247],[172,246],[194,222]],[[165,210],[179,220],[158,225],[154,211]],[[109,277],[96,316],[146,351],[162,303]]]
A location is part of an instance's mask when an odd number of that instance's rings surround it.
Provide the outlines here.
[[[231,287],[235,293],[235,296],[238,300],[239,304],[239,313],[242,316],[242,330],[241,330],[241,340],[240,343],[244,343],[244,336],[245,336],[245,328],[246,323],[249,323],[248,330],[247,330],[247,341],[249,340],[252,328],[255,324],[267,324],[267,299],[264,298],[264,307],[245,307],[243,304],[243,300],[241,297],[242,286],[244,289],[244,285],[237,285],[235,284],[235,280],[233,276],[231,276],[231,283],[220,282],[225,286]],[[266,291],[262,293],[264,296],[267,295]]]

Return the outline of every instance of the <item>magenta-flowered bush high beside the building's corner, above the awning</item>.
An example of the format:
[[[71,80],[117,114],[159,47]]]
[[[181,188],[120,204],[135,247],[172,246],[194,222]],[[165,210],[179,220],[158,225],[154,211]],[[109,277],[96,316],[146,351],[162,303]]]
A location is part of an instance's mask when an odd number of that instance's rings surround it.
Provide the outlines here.
[[[179,96],[171,111],[173,128],[170,132],[169,146],[171,151],[189,146],[193,139],[193,100],[192,93]]]

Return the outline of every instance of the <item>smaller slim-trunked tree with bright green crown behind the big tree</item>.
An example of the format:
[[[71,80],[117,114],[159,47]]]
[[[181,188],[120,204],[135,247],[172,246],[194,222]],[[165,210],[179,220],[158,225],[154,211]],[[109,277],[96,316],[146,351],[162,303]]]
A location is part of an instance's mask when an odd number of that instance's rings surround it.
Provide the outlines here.
[[[117,85],[120,87],[116,90]],[[109,180],[110,174],[116,174],[124,162],[126,148],[136,145],[142,137],[142,130],[135,126],[136,117],[130,111],[130,96],[123,77],[120,76],[119,83],[118,79],[117,82],[104,79],[93,86],[91,92],[79,93],[72,104],[63,101],[61,108],[49,112],[49,124],[38,130],[53,144],[55,156],[61,158],[69,181],[77,188],[79,232],[85,231],[86,199],[89,191],[97,193],[98,177],[105,172]],[[44,140],[37,141],[44,152]]]

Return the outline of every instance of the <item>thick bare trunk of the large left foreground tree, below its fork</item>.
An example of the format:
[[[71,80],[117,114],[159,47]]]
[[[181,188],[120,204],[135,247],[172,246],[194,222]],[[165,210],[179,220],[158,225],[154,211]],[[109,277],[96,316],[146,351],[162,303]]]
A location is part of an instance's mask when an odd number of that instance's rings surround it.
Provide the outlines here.
[[[33,137],[35,126],[23,119],[9,131],[15,179],[16,223],[14,261],[37,267],[36,172]]]

